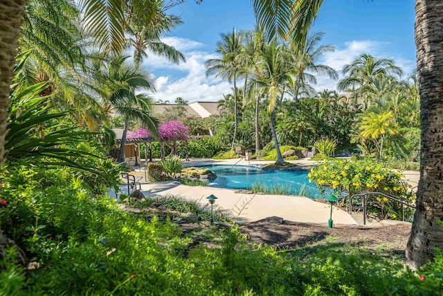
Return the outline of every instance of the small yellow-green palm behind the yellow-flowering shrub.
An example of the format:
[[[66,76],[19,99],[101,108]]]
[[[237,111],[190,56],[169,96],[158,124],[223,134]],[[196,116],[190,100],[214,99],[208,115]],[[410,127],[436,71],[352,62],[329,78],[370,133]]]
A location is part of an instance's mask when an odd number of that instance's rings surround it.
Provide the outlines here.
[[[380,151],[380,159],[382,159],[383,144],[386,134],[398,134],[399,127],[395,121],[392,120],[392,112],[383,112],[382,114],[376,114],[370,112],[370,114],[363,116],[363,121],[360,125],[360,134],[365,138],[374,139],[377,144],[377,148]],[[380,137],[380,143],[377,139]]]

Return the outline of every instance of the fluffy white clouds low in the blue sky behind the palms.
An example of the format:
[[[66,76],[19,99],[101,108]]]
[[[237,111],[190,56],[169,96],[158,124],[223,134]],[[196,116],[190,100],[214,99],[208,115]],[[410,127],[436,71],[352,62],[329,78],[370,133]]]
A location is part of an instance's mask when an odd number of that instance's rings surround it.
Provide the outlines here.
[[[144,62],[147,69],[151,69],[154,74],[161,72],[161,75],[155,77],[157,92],[153,94],[154,99],[172,103],[175,98],[180,96],[190,103],[218,101],[223,98],[223,94],[230,92],[233,85],[229,82],[215,76],[206,77],[204,62],[210,58],[216,58],[217,55],[204,51],[205,44],[178,37],[165,37],[163,42],[179,49],[186,56],[186,62],[177,65],[165,58],[148,53],[149,57]],[[395,60],[405,73],[410,73],[415,68],[415,61],[389,55],[386,52],[387,45],[372,40],[345,42],[343,46],[336,45],[336,51],[325,55],[321,62],[338,71],[340,78],[343,78],[341,70],[345,64],[350,64],[363,53],[370,53],[374,56],[387,56]],[[171,73],[168,74],[168,71]],[[317,80],[317,85],[314,87],[318,91],[336,89],[337,80],[323,76],[318,76]]]

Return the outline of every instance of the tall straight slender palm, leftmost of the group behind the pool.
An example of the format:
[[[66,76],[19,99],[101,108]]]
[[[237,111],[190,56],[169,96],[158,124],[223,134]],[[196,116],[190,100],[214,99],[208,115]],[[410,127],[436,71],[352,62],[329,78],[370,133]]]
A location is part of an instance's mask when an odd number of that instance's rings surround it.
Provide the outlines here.
[[[206,76],[216,74],[234,83],[234,135],[231,149],[234,148],[235,137],[237,137],[237,78],[240,72],[241,55],[244,50],[242,44],[243,34],[237,33],[233,28],[230,34],[221,34],[221,42],[217,45],[216,52],[221,58],[210,59],[205,62]]]

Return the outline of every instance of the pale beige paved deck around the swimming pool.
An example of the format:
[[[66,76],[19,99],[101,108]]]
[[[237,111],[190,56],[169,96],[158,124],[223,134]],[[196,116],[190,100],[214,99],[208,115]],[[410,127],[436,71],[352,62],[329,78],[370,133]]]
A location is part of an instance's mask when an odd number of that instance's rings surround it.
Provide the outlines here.
[[[190,159],[189,162],[183,162],[184,166],[202,166],[209,164],[229,164],[229,165],[257,165],[263,166],[273,162],[251,161],[244,159]],[[317,164],[317,162],[299,159],[291,161],[305,168]],[[139,169],[136,168],[136,172]],[[405,172],[406,178],[411,180],[415,186],[418,182],[419,173]],[[122,193],[125,193],[125,186],[120,186]],[[156,195],[181,195],[183,198],[197,200],[201,204],[207,204],[206,197],[215,195],[218,199],[215,207],[223,211],[230,211],[237,220],[244,222],[253,222],[262,220],[271,216],[278,216],[284,220],[300,223],[318,223],[327,224],[329,219],[330,207],[328,204],[315,202],[309,198],[300,196],[286,195],[266,195],[266,194],[245,194],[235,193],[232,189],[220,189],[206,186],[186,186],[179,182],[145,182],[141,185],[141,191],[146,197]],[[115,193],[109,195],[115,198]],[[332,219],[335,225],[357,225],[353,216],[346,211],[333,207]],[[359,219],[357,219],[359,220]]]

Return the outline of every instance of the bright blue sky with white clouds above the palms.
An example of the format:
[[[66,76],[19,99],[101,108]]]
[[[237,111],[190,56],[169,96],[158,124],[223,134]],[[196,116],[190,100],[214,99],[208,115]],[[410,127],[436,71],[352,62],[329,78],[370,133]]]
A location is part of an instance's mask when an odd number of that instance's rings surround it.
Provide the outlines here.
[[[325,0],[311,32],[325,33],[320,44],[332,44],[336,51],[325,55],[326,64],[340,73],[363,53],[395,60],[406,74],[416,67],[414,41],[414,0]],[[217,58],[215,49],[221,33],[251,29],[255,16],[251,0],[188,0],[171,10],[184,24],[163,37],[163,42],[179,49],[186,62],[172,64],[148,53],[144,65],[154,76],[155,101],[184,98],[218,101],[233,87],[215,76],[206,77],[204,62]],[[318,92],[336,89],[336,80],[317,76]]]

